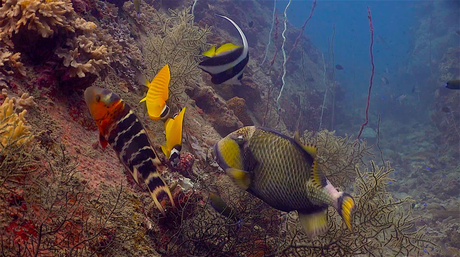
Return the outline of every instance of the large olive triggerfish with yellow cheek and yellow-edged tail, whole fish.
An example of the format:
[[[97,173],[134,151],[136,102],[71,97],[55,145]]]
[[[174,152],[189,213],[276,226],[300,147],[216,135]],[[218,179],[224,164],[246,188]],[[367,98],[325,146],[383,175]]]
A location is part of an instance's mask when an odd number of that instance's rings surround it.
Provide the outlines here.
[[[236,187],[277,210],[297,210],[308,237],[328,231],[328,205],[353,232],[355,201],[328,181],[316,163],[316,151],[300,141],[298,132],[290,138],[255,126],[240,128],[214,145],[217,163]]]

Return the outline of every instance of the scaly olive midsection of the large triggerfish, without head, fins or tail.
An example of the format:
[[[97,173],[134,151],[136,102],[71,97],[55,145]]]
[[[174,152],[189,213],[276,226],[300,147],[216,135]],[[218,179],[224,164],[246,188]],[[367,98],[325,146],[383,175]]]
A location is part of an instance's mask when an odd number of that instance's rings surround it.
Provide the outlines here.
[[[248,145],[258,163],[250,189],[270,206],[286,212],[314,205],[307,190],[312,163],[294,144],[286,137],[256,129]]]

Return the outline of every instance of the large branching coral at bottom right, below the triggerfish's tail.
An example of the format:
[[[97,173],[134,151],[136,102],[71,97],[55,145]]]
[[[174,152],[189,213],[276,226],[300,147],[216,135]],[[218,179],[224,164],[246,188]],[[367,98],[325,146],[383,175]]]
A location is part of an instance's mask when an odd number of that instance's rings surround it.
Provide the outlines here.
[[[393,199],[385,186],[394,181],[388,175],[394,171],[378,167],[371,161],[372,170],[364,171],[355,164],[357,179],[353,197],[357,204],[353,230],[350,232],[340,221],[339,214],[328,211],[329,231],[315,239],[308,239],[297,224],[297,215],[291,213],[283,224],[287,245],[282,256],[353,257],[366,256],[423,256],[424,250],[434,246],[422,232],[425,226],[414,228],[411,197]],[[407,207],[406,207],[407,206]],[[331,209],[331,208],[330,208]],[[297,227],[297,229],[293,229]]]

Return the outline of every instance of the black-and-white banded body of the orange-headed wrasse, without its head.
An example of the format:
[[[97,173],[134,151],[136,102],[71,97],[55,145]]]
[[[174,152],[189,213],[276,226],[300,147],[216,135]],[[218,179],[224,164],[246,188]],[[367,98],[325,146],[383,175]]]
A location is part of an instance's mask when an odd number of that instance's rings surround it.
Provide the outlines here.
[[[123,104],[123,111],[113,117],[116,122],[110,128],[108,136],[105,136],[105,140],[113,147],[121,163],[130,171],[138,184],[140,184],[138,178],[140,173],[156,206],[163,215],[166,215],[160,204],[161,196],[167,193],[173,208],[174,202],[167,184],[157,170],[161,161],[150,145],[144,126],[132,112],[131,107],[123,100],[120,104]]]

